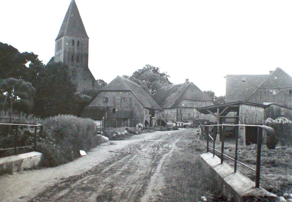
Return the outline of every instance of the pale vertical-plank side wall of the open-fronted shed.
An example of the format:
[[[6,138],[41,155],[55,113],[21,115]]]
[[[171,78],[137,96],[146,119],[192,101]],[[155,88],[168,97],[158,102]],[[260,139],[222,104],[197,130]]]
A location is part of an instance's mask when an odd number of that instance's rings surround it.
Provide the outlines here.
[[[239,106],[240,124],[263,124],[265,122],[265,109],[260,106],[241,104]]]

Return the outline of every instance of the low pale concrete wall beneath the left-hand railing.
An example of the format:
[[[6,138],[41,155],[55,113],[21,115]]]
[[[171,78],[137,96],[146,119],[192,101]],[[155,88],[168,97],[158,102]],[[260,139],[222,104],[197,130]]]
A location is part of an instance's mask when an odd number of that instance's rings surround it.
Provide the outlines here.
[[[42,153],[33,151],[0,158],[0,175],[35,168],[41,161],[41,155]]]

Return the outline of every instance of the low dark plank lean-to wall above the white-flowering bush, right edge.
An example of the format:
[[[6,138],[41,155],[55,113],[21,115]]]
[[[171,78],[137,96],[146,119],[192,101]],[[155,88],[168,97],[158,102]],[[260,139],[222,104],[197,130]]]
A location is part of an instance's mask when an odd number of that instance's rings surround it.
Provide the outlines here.
[[[276,119],[278,117],[286,117],[289,120],[292,120],[292,109],[287,109],[273,104],[265,109],[265,119]]]

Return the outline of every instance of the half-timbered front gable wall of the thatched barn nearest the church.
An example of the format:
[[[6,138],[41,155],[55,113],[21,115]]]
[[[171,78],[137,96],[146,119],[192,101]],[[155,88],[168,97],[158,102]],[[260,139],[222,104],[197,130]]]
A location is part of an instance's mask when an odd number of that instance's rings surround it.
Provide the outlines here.
[[[108,102],[104,102],[103,98],[108,97]],[[127,101],[122,102],[122,97],[126,97]],[[131,94],[126,91],[108,91],[100,92],[98,96],[91,102],[90,106],[109,106],[107,110],[107,118],[105,120],[106,127],[116,127],[117,120],[113,113],[113,108],[116,111],[131,111],[130,126],[135,126],[137,123],[144,123],[144,107]]]

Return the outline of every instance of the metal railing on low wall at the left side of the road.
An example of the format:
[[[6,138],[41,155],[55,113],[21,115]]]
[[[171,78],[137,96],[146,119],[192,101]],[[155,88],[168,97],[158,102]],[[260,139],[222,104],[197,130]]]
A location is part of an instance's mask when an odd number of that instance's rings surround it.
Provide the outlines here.
[[[8,125],[8,126],[15,126],[15,134],[14,134],[14,147],[12,148],[5,148],[5,149],[0,149],[0,151],[8,151],[8,150],[14,150],[14,154],[16,155],[18,153],[18,149],[23,149],[23,148],[29,148],[33,147],[34,151],[36,151],[36,133],[37,133],[37,127],[40,127],[40,135],[43,132],[43,125],[41,124],[36,124],[36,125],[30,125],[30,124],[11,124],[11,123],[0,123],[1,125]],[[34,144],[29,145],[29,146],[20,146],[18,147],[18,127],[19,126],[27,126],[27,127],[34,127]]]

